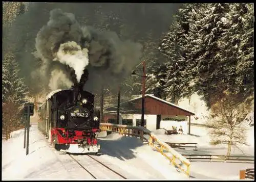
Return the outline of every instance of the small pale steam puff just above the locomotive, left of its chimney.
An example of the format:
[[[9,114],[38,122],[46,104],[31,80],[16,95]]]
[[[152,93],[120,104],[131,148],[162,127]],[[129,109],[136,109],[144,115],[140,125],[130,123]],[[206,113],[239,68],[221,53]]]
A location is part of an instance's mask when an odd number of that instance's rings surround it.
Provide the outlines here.
[[[51,90],[69,89],[72,86],[72,82],[62,70],[55,69],[51,72],[51,79],[48,86]]]

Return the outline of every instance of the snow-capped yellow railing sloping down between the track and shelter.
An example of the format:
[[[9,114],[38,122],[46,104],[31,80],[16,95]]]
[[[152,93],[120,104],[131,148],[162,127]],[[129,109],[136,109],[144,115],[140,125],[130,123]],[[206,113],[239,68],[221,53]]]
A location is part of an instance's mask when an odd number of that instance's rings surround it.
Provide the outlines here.
[[[137,131],[135,132],[136,134],[134,136],[140,137],[142,141],[143,139],[147,140],[148,144],[151,147],[156,148],[158,152],[164,155],[164,157],[166,157],[173,166],[178,167],[181,171],[189,176],[190,162],[168,144],[158,139],[158,137],[150,130],[142,126],[128,126],[112,123],[100,123],[100,129],[101,131],[112,131],[128,136],[133,136],[131,135],[131,131],[132,134],[134,133],[134,131]],[[149,136],[149,138],[147,137],[147,139],[145,135]],[[165,150],[165,152],[163,152],[163,150]],[[176,160],[178,160],[178,162]],[[186,166],[186,169],[182,165],[178,164],[179,162],[184,164],[184,166]]]

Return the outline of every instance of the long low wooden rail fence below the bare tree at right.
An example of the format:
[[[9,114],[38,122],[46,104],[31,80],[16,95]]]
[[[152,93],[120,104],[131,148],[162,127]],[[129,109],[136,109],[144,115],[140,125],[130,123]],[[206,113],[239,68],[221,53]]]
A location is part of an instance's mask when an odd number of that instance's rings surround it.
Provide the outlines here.
[[[189,161],[254,163],[253,156],[229,156],[212,154],[183,154]]]

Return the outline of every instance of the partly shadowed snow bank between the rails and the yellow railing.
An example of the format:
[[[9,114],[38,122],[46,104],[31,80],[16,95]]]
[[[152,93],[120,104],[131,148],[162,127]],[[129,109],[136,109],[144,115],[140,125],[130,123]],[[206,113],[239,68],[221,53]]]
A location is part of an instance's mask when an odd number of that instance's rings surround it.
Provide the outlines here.
[[[99,140],[103,153],[101,157],[132,174],[133,178],[188,179],[184,173],[177,172],[163,155],[136,137],[112,133]]]

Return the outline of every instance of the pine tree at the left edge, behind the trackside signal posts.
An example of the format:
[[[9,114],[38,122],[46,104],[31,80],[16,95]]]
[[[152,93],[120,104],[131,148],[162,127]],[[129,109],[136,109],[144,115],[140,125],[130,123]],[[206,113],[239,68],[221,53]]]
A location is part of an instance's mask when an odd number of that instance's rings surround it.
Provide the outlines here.
[[[3,60],[2,107],[3,107],[3,133],[8,140],[11,132],[22,122],[23,106],[27,86],[24,79],[19,77],[18,64],[13,54],[7,54]]]

